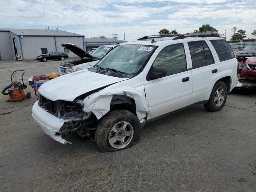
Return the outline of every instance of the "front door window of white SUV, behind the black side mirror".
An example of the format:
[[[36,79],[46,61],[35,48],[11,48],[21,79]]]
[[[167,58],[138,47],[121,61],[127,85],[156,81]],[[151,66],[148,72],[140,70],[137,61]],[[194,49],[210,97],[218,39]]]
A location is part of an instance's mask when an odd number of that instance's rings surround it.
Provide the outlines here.
[[[153,67],[165,67],[167,70],[167,76],[187,69],[183,44],[174,44],[163,48],[156,57]]]

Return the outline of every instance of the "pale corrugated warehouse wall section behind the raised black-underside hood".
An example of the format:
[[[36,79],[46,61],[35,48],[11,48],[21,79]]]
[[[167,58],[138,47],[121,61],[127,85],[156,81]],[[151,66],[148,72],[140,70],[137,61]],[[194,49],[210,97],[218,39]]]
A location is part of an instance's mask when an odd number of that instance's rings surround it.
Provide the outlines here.
[[[64,48],[61,46],[61,44],[63,43],[72,43],[84,49],[83,38],[84,37],[56,37],[57,51],[64,52]],[[72,57],[78,57],[78,56],[70,51],[70,53],[68,54],[68,57],[72,58]]]

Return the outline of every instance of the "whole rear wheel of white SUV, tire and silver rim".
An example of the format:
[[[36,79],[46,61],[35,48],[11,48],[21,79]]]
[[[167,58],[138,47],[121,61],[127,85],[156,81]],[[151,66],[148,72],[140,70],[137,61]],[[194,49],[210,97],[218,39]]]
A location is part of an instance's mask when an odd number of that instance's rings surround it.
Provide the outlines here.
[[[212,112],[221,110],[226,103],[227,93],[226,84],[223,81],[217,82],[212,89],[208,103],[204,104],[204,107]]]

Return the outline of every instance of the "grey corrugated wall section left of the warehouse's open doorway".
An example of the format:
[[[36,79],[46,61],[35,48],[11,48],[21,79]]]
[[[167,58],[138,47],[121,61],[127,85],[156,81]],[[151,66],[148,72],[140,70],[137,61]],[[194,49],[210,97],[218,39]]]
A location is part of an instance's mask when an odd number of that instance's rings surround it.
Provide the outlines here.
[[[0,60],[13,60],[14,48],[10,32],[0,32]]]

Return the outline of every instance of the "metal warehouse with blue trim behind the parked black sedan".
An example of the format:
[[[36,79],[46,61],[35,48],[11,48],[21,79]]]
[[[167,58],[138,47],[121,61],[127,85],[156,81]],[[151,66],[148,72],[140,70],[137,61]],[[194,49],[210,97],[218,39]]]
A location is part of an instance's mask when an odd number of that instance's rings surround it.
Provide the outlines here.
[[[72,43],[85,50],[84,36],[61,30],[41,29],[1,29],[0,28],[0,60],[16,60],[17,55],[36,59],[46,52],[60,51],[69,57],[77,57],[62,43]]]

